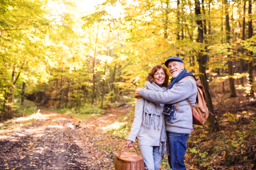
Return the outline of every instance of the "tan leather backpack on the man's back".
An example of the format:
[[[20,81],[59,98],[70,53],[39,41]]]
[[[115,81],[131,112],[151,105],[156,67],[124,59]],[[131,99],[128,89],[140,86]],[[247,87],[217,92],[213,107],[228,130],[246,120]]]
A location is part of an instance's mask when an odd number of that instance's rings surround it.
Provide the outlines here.
[[[192,78],[192,76],[184,77],[183,79]],[[182,79],[181,79],[182,80]],[[197,88],[198,88],[198,94],[196,96],[196,103],[194,106],[191,105],[188,99],[185,99],[185,101],[189,104],[191,110],[192,110],[192,116],[193,116],[193,124],[194,125],[204,125],[206,122],[209,113],[208,108],[206,106],[206,94],[204,91],[204,86],[200,84],[200,79],[195,80]],[[179,103],[176,104],[176,109],[179,108]],[[213,114],[212,114],[213,115]]]

